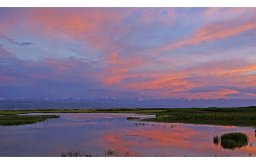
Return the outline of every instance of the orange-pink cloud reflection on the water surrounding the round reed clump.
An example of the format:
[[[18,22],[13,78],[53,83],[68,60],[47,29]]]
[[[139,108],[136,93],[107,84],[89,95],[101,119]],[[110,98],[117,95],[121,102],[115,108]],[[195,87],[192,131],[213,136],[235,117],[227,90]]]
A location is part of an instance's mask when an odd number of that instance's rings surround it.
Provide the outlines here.
[[[154,123],[161,124],[164,123]],[[168,123],[165,123],[166,127]],[[248,156],[255,155],[256,140],[253,129],[240,127],[222,127],[208,125],[197,126],[196,129],[189,128],[189,124],[176,124],[179,128],[129,128],[122,129],[122,133],[110,132],[101,138],[102,142],[114,145],[120,151],[129,151],[137,156]],[[170,126],[170,124],[169,124]],[[206,129],[205,129],[206,128]],[[212,132],[211,129],[216,129]],[[242,130],[243,129],[243,130]],[[225,150],[213,144],[213,135],[232,131],[241,131],[250,138],[249,145],[237,150]],[[252,143],[252,145],[250,145]]]

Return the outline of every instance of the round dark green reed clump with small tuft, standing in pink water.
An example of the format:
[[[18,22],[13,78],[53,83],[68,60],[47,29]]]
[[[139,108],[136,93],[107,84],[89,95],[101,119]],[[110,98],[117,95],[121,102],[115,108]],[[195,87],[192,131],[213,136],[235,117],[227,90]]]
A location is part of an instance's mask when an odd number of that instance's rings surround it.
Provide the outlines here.
[[[248,145],[249,138],[241,132],[224,133],[220,136],[213,136],[213,144],[220,145],[224,149],[235,150]]]

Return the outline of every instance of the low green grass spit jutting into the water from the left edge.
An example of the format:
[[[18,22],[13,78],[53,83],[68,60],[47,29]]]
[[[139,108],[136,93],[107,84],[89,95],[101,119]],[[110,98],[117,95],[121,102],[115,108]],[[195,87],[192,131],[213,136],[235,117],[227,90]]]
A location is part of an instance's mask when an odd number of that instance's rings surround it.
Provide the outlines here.
[[[6,115],[0,116],[0,125],[22,125],[32,124],[38,121],[44,121],[48,118],[59,118],[57,115],[41,115],[41,116],[19,116],[19,115]]]

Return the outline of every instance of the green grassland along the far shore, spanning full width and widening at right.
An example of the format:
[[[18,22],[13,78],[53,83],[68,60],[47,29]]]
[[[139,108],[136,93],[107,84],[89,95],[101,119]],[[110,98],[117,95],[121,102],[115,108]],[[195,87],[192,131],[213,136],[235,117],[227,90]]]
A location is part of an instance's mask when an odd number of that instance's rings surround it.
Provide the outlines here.
[[[141,119],[141,121],[256,127],[256,106],[239,108],[0,110],[0,115],[24,113],[140,113],[156,115],[156,118]]]

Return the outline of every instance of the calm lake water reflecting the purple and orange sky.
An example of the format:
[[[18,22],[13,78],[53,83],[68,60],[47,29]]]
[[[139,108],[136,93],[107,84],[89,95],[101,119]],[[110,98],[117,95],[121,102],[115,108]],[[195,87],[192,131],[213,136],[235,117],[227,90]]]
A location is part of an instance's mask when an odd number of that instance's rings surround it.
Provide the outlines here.
[[[52,113],[23,115],[43,114]],[[134,114],[54,114],[60,118],[0,126],[0,156],[60,156],[69,150],[103,156],[108,149],[118,149],[119,156],[256,156],[253,128],[126,120]],[[228,150],[213,144],[214,135],[232,131],[246,133],[249,145]]]

